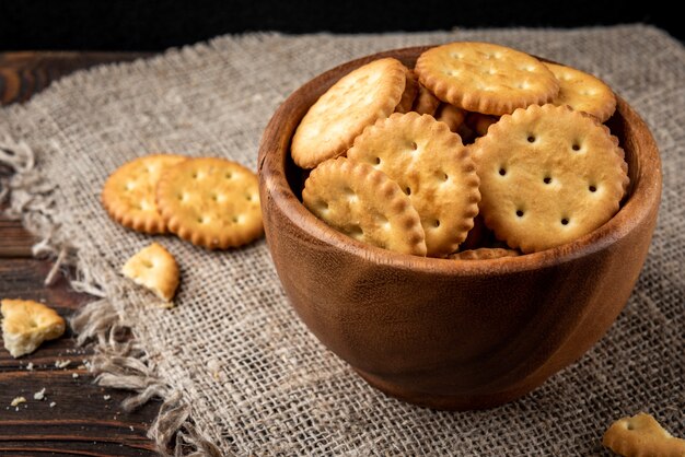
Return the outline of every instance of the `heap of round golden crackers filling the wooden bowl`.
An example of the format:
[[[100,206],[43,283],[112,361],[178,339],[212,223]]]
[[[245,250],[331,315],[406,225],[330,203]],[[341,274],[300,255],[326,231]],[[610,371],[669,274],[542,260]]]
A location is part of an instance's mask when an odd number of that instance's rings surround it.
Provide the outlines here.
[[[494,259],[569,243],[619,209],[628,167],[600,79],[490,43],[373,60],[309,109],[291,143],[304,206],[362,243]]]

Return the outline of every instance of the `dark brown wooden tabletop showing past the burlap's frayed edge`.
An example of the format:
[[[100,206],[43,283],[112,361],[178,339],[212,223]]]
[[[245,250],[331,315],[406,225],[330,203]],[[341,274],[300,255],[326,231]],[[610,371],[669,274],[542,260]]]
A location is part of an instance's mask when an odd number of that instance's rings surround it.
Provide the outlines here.
[[[97,63],[131,60],[141,54],[0,52],[0,102],[22,103],[74,70]],[[9,171],[0,166],[0,174]],[[70,290],[63,278],[46,288],[50,269],[31,256],[35,239],[16,221],[0,215],[0,297],[44,301],[68,317],[91,297]],[[36,352],[12,359],[0,348],[0,456],[153,456],[146,437],[160,402],[135,412],[120,402],[127,392],[96,386],[83,366],[89,351],[72,335],[44,343]],[[57,362],[69,361],[65,366]],[[28,363],[33,370],[27,370]],[[45,388],[45,399],[34,394]],[[10,406],[15,397],[26,402]]]

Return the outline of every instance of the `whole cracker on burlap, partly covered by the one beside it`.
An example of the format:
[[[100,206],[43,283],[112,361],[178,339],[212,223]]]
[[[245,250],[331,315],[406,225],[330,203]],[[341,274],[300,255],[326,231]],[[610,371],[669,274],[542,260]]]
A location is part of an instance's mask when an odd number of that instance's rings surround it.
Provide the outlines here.
[[[109,175],[102,203],[112,219],[137,232],[166,232],[155,203],[155,186],[165,167],[185,161],[178,154],[151,154],[125,163]]]

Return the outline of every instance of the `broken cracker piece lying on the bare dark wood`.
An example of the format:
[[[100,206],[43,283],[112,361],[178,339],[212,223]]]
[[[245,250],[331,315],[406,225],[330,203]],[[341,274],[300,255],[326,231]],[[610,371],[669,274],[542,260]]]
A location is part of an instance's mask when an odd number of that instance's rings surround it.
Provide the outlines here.
[[[61,337],[65,319],[43,303],[31,300],[2,300],[2,339],[13,358],[34,352],[44,341]]]

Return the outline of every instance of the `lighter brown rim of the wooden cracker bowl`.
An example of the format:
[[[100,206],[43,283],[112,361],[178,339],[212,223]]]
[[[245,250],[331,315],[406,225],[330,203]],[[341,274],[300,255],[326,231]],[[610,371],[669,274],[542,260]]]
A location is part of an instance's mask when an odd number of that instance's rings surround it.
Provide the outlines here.
[[[286,173],[290,141],[292,140],[294,129],[301,120],[301,117],[295,120],[290,116],[293,107],[298,105],[298,99],[307,92],[315,92],[317,93],[316,96],[321,95],[337,79],[371,60],[383,57],[413,60],[420,52],[433,46],[438,45],[395,48],[352,59],[317,74],[293,91],[271,116],[259,143],[258,179],[259,188],[264,192],[262,198],[263,210],[266,211],[266,198],[264,197],[268,196],[271,204],[278,208],[292,225],[299,227],[306,235],[323,242],[333,249],[342,250],[348,255],[362,258],[367,262],[431,274],[456,274],[463,277],[481,276],[484,273],[523,272],[557,266],[579,257],[592,255],[606,249],[625,237],[628,233],[636,230],[642,221],[650,218],[652,211],[658,211],[661,200],[662,171],[657,142],[645,120],[623,97],[616,94],[616,113],[620,114],[620,117],[624,119],[624,133],[627,130],[640,132],[640,138],[631,138],[631,140],[637,141],[630,142],[631,154],[635,155],[632,162],[637,165],[637,171],[634,174],[636,179],[635,181],[631,179],[628,187],[630,194],[627,199],[624,197],[625,201],[623,201],[618,212],[612,219],[572,242],[536,253],[498,259],[462,260],[419,257],[395,253],[359,242],[317,219],[297,198],[288,183]],[[537,58],[552,61],[546,58]],[[306,109],[304,109],[305,112]],[[302,116],[304,113],[302,113]],[[287,119],[290,122],[283,122]],[[288,128],[291,129],[286,134],[288,141],[280,141],[279,134],[282,134],[283,130]],[[615,133],[612,132],[612,134]],[[622,148],[625,150],[625,136],[620,138],[620,141]],[[635,153],[636,151],[640,153]],[[266,220],[267,218],[265,218]]]

